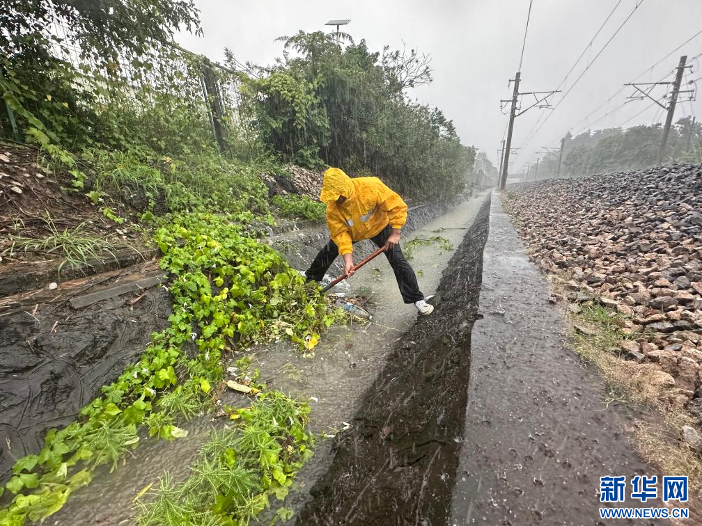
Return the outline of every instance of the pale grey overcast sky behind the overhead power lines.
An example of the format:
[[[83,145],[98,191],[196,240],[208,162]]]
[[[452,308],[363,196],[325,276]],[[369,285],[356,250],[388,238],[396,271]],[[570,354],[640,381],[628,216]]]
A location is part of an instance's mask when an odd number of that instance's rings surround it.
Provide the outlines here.
[[[195,4],[201,11],[204,37],[180,34],[177,40],[185,48],[220,62],[227,47],[241,62],[270,64],[281,55],[282,44],[274,41],[278,36],[299,29],[329,30],[324,22],[335,18],[350,18],[345,30],[355,41],[366,39],[371,50],[380,50],[385,44],[401,48],[404,41],[428,53],[434,82],[413,90],[413,97],[442,109],[453,120],[463,144],[486,151],[494,164],[499,163],[498,148],[508,121],[499,101],[512,95],[508,79],[514,78],[519,67],[529,0],[195,0]],[[640,6],[634,10],[637,4]],[[559,104],[629,15],[609,46]],[[521,149],[510,161],[510,173],[536,161],[541,147],[557,146],[564,133],[576,134],[592,121],[596,121],[592,129],[664,121],[663,109],[650,100],[635,100],[617,109],[631,90],[615,93],[644,72],[638,82],[660,81],[667,73],[665,80],[672,81],[681,55],[687,54],[688,60],[702,55],[702,34],[671,53],[697,32],[702,32],[702,0],[533,0],[519,90],[559,87],[563,93],[551,99],[553,105],[559,104],[557,109],[534,108],[516,119],[512,147]],[[590,41],[592,45],[561,84]],[[668,53],[668,58],[647,71]],[[687,81],[702,76],[702,56],[691,64]],[[702,87],[702,79],[697,85]],[[654,94],[661,96],[664,90],[658,87]],[[610,102],[597,109],[612,95]],[[529,96],[524,95],[522,109],[531,104]],[[687,95],[681,97],[687,101]],[[605,116],[608,112],[611,114]],[[702,94],[694,102],[678,104],[675,120],[691,112],[702,119]],[[544,122],[548,113],[551,115]]]

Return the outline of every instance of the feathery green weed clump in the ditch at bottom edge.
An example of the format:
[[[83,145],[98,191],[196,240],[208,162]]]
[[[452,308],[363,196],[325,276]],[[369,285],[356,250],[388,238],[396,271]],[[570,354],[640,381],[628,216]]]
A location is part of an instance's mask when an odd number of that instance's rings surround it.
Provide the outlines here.
[[[228,408],[233,426],[214,431],[175,485],[166,472],[159,488],[139,501],[137,522],[149,526],[244,525],[283,500],[292,479],[312,454],[305,433],[310,407],[279,391],[258,395],[251,407]]]

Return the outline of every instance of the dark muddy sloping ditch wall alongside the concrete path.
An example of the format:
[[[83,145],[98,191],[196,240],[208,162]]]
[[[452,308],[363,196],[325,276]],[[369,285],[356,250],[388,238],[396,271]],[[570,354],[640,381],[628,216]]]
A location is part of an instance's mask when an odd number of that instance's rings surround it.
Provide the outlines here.
[[[489,200],[444,271],[435,313],[399,340],[297,524],[445,524],[463,433]]]

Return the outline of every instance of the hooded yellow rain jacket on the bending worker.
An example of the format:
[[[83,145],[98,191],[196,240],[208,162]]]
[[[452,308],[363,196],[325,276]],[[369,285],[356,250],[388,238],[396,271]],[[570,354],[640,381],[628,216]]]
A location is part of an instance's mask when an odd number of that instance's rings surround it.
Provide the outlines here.
[[[336,204],[344,196],[343,204]],[[355,177],[343,170],[324,172],[319,201],[326,204],[326,223],[341,255],[350,254],[352,243],[369,239],[390,224],[400,229],[407,221],[407,205],[378,177]]]

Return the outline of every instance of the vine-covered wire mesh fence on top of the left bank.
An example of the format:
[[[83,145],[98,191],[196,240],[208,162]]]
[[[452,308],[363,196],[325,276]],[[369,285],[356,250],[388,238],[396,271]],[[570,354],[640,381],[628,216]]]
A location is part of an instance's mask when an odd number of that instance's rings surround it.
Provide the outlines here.
[[[46,31],[53,41],[52,53],[62,60],[62,76],[69,77],[70,109],[96,116],[110,116],[120,133],[133,142],[168,151],[168,142],[192,138],[194,145],[208,142],[223,154],[240,144],[252,144],[253,132],[241,115],[241,74],[172,43],[148,51],[143,57],[112,53],[95,58],[84,53],[72,31],[59,19]],[[116,58],[116,60],[115,60]],[[58,81],[58,79],[57,79]],[[51,93],[25,84],[41,100]],[[68,107],[68,103],[66,103]],[[0,135],[20,140],[12,111],[0,112]],[[173,127],[181,128],[173,134]],[[160,147],[160,148],[159,148]]]

